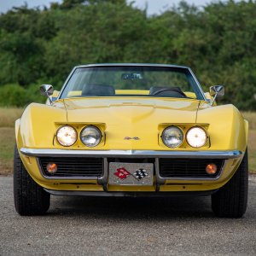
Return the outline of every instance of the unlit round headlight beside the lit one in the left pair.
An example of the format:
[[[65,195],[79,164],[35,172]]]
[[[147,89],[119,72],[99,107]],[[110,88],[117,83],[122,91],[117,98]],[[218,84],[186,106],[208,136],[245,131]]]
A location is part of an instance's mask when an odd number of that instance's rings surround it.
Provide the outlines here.
[[[102,140],[102,132],[95,126],[86,126],[80,134],[82,143],[87,147],[96,147]]]

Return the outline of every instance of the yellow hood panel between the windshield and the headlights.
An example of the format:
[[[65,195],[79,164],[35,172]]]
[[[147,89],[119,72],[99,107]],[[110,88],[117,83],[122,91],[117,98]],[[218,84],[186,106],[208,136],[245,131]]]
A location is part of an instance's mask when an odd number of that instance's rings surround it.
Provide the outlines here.
[[[68,122],[106,125],[195,123],[200,101],[162,98],[73,98],[64,100]]]

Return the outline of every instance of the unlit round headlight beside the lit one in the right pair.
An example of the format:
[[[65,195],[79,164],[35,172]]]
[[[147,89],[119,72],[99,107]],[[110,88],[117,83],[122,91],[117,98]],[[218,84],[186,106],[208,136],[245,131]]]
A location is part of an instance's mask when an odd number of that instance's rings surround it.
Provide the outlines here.
[[[177,126],[169,126],[162,133],[163,143],[169,148],[177,148],[183,143],[183,131]]]

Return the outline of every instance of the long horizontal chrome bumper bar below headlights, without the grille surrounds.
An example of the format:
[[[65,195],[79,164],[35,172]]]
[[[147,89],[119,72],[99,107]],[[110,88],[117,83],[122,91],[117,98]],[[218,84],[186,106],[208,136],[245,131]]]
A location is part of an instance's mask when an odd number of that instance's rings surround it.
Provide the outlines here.
[[[235,159],[242,155],[239,150],[229,151],[174,151],[174,150],[78,150],[51,148],[20,148],[27,156],[65,156],[65,157],[134,157],[134,158],[216,158]]]

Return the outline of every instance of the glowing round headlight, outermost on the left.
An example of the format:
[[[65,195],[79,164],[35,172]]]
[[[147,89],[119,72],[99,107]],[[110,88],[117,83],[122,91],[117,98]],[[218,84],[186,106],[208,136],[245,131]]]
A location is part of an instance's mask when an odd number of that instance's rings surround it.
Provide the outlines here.
[[[77,141],[78,134],[72,126],[64,125],[57,131],[56,138],[62,146],[70,147]]]

